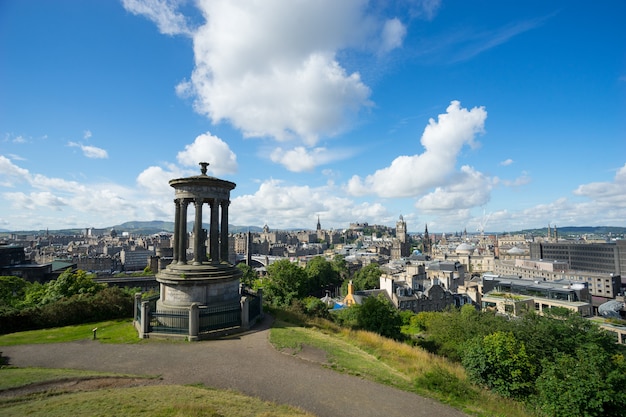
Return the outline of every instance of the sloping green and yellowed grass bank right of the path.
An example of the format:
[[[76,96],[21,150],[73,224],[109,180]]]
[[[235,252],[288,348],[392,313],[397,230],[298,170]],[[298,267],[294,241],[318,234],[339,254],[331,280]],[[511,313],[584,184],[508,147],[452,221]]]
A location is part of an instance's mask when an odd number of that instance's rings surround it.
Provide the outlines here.
[[[340,329],[321,320],[308,325],[276,320],[270,342],[294,354],[305,345],[322,349],[335,370],[434,398],[470,415],[533,415],[523,404],[471,384],[460,364],[374,333]]]

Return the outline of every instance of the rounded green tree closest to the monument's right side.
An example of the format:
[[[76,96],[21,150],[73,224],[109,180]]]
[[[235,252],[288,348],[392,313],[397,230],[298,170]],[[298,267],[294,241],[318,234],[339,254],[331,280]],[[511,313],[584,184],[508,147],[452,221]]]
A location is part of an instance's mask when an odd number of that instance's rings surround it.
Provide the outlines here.
[[[304,269],[288,259],[281,259],[267,267],[268,279],[265,293],[276,306],[288,306],[294,299],[307,294],[307,276]]]

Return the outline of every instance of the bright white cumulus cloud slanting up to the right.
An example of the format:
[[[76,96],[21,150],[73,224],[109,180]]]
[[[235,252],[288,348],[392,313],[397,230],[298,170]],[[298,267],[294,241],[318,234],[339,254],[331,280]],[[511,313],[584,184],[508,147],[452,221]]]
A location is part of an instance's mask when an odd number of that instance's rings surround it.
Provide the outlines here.
[[[484,132],[487,112],[471,110],[452,101],[438,120],[430,119],[422,134],[424,152],[402,155],[390,166],[365,178],[353,176],[347,184],[352,195],[376,194],[381,197],[416,197],[432,187],[447,186],[454,179],[456,160],[465,145],[475,147],[474,138]]]

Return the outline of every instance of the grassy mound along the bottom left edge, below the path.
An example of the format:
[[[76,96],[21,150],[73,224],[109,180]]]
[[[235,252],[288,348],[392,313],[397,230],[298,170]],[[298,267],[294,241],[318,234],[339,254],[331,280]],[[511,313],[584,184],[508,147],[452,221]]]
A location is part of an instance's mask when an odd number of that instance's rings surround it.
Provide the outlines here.
[[[0,405],[4,417],[313,417],[294,407],[201,386],[157,385],[31,396]]]

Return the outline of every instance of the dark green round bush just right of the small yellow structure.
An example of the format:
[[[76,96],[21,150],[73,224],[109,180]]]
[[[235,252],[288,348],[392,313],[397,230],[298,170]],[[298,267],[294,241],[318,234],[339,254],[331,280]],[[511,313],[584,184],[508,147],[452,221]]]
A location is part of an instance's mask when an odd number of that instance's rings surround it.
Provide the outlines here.
[[[351,307],[352,308],[352,307]],[[357,325],[381,336],[401,339],[402,318],[384,295],[367,297],[358,309]]]

